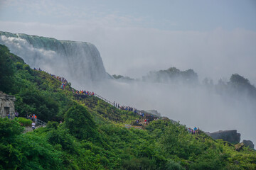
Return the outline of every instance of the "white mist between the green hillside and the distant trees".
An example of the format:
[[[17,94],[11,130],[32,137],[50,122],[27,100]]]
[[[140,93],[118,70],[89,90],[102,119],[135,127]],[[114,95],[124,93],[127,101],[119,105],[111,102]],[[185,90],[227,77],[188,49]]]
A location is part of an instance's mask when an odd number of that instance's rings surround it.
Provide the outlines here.
[[[248,96],[217,94],[206,86],[110,80],[92,88],[110,101],[161,115],[206,132],[238,130],[242,140],[256,143],[256,101]]]

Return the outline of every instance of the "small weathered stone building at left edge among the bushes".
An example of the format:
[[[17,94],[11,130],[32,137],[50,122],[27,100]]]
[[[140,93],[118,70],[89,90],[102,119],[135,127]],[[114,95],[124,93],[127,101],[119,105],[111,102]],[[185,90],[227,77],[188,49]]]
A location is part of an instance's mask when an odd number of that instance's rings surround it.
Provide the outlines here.
[[[4,94],[0,91],[0,117],[5,118],[9,113],[11,118],[15,117],[15,108],[14,101],[16,100],[15,96]]]

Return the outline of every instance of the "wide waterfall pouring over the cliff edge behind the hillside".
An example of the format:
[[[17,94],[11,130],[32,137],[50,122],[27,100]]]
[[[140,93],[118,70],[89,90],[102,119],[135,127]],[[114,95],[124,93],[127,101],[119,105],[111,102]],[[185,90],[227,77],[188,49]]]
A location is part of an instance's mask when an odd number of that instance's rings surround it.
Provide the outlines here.
[[[40,67],[46,72],[65,77],[78,89],[107,77],[100,52],[88,42],[0,31],[0,44],[9,47],[32,68]]]

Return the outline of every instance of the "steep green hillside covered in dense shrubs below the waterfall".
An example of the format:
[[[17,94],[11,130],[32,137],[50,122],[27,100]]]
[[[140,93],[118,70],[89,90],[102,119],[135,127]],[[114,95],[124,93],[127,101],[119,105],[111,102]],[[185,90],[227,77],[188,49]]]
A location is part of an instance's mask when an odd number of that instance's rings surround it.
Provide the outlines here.
[[[4,45],[0,68],[0,91],[16,96],[19,115],[48,123],[23,133],[17,119],[1,118],[0,169],[256,169],[254,150],[192,135],[168,118],[124,128],[144,118],[76,94],[68,82],[61,89],[57,75],[31,69]]]

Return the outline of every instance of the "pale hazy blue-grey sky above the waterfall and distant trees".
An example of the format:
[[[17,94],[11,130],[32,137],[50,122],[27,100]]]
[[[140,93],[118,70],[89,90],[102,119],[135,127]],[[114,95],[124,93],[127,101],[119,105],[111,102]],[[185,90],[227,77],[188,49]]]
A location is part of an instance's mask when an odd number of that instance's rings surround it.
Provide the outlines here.
[[[110,74],[194,69],[256,84],[256,1],[0,0],[0,30],[92,42]]]

